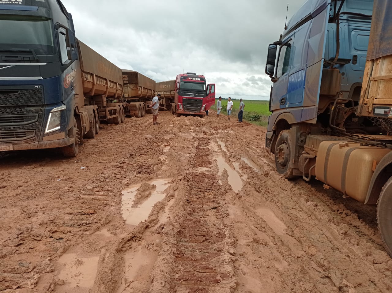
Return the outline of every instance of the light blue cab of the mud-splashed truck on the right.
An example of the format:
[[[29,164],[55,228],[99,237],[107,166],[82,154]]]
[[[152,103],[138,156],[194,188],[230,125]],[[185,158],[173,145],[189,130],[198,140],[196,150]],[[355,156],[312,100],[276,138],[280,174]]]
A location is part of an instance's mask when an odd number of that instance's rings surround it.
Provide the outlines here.
[[[327,135],[377,131],[355,115],[372,10],[373,0],[308,0],[269,45],[270,152],[275,153],[281,131],[303,123]]]

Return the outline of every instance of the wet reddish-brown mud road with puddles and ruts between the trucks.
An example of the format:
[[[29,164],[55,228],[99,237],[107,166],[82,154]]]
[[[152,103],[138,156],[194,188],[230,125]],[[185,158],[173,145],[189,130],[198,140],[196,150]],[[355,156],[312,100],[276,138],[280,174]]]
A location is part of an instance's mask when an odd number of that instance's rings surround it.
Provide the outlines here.
[[[158,119],[0,157],[0,292],[392,291],[374,206],[284,180],[262,127]]]

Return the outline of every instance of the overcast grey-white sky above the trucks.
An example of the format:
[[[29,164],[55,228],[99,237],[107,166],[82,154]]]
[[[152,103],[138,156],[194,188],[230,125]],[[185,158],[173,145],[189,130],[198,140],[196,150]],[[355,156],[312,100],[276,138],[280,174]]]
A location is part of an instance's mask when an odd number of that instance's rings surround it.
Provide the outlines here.
[[[62,0],[76,36],[122,69],[156,80],[203,74],[216,94],[268,99],[268,44],[305,0]],[[240,97],[238,97],[240,98]]]

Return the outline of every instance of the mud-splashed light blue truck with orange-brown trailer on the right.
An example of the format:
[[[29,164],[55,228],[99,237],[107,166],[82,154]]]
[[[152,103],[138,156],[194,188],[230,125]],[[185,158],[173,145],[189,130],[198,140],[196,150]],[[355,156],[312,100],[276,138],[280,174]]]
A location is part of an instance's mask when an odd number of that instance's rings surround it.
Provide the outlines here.
[[[392,257],[392,2],[309,0],[269,45],[266,148],[287,179],[377,204]]]

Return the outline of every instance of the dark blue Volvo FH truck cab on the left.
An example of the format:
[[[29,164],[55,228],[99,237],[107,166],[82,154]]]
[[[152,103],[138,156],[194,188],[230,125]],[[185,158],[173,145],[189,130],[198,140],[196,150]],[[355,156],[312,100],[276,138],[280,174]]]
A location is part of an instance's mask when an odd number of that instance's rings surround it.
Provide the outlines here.
[[[0,27],[0,152],[77,146],[71,14],[60,0],[1,1]]]

